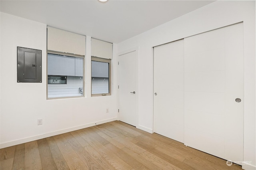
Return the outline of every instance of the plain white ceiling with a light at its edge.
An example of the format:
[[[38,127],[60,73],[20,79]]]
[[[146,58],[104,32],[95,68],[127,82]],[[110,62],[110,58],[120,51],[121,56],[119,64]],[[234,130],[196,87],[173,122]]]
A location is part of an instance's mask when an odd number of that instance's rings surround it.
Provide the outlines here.
[[[119,43],[212,3],[209,0],[0,0],[0,11]]]

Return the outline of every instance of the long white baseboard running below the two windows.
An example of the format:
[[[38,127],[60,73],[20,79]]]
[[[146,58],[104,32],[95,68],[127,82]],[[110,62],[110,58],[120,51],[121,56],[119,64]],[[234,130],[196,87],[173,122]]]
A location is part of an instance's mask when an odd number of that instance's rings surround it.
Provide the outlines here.
[[[106,119],[106,120],[102,120],[102,121],[98,121],[98,122],[94,122],[94,123],[88,123],[88,124],[80,125],[80,126],[77,126],[77,127],[66,128],[66,129],[57,130],[57,131],[54,131],[54,132],[49,132],[49,133],[46,133],[46,134],[39,134],[39,135],[36,135],[36,136],[30,136],[30,137],[27,137],[27,138],[13,140],[13,141],[10,141],[10,142],[1,143],[0,148],[6,148],[6,147],[9,147],[9,146],[14,146],[14,145],[17,145],[17,144],[31,142],[31,141],[42,139],[42,138],[48,138],[50,136],[55,136],[55,135],[63,134],[63,133],[66,133],[66,132],[72,132],[74,130],[79,130],[79,129],[82,129],[82,128],[92,127],[92,126],[95,126],[95,125],[100,125],[100,124],[103,124],[103,123],[108,123],[108,122],[112,122],[112,121],[116,121],[116,120],[117,120],[117,118],[114,117],[114,118],[111,118],[111,119]]]

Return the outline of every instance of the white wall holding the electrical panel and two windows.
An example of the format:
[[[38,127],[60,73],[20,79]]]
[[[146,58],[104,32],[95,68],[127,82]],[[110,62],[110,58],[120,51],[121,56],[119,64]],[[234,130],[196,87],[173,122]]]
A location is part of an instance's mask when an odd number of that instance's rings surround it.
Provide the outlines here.
[[[2,12],[0,16],[1,148],[116,120],[116,84],[111,96],[90,97],[90,57],[85,64],[86,97],[46,100],[46,25]],[[42,50],[42,83],[17,83],[17,46]],[[90,44],[86,49],[90,56]],[[116,65],[115,57],[112,62]],[[116,68],[112,69],[116,82]],[[40,118],[43,125],[38,126]]]

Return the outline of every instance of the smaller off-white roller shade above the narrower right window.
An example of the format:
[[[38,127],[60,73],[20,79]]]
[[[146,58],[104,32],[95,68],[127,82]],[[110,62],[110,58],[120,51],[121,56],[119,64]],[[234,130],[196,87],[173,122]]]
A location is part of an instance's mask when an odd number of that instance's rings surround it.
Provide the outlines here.
[[[92,38],[91,55],[94,57],[112,59],[112,43]]]

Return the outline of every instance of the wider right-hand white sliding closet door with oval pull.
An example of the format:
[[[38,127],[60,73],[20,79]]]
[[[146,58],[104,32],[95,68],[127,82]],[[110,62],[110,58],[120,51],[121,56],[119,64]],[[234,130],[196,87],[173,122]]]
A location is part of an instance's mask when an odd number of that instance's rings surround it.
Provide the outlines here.
[[[243,24],[184,39],[184,144],[243,160]]]

